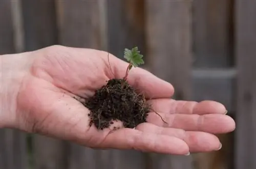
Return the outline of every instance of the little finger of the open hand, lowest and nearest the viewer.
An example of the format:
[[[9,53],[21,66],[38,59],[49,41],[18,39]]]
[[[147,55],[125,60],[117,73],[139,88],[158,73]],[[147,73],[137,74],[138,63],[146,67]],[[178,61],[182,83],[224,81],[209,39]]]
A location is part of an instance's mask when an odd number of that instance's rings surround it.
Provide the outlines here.
[[[108,134],[103,147],[114,149],[135,149],[143,152],[185,155],[189,149],[187,144],[174,136],[142,132],[130,128],[122,128]]]

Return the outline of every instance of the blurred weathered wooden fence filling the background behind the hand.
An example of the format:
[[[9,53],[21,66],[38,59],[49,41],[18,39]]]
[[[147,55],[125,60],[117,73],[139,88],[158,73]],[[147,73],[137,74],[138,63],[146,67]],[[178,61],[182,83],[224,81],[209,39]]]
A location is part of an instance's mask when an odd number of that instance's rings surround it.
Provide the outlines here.
[[[237,122],[222,149],[190,156],[92,150],[0,130],[0,169],[256,168],[256,1],[0,0],[0,54],[60,44],[123,57],[171,82],[176,99],[223,103]],[[250,72],[252,71],[252,72]]]

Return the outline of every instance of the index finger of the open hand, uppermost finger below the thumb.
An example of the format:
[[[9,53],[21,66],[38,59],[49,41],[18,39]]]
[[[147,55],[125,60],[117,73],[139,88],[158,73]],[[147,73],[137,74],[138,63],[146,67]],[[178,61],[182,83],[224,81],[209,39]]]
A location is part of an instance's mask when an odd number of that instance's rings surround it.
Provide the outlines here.
[[[167,112],[170,114],[225,114],[226,108],[216,101],[183,101],[173,99],[152,99],[148,100],[152,108],[157,112]]]

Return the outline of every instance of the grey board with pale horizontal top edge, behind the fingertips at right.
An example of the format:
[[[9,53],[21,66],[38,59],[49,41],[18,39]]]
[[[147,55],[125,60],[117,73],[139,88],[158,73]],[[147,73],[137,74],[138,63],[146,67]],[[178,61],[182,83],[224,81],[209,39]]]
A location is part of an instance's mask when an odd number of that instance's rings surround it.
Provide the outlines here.
[[[236,69],[194,69],[193,100],[215,100],[228,109],[228,114],[236,111]]]

